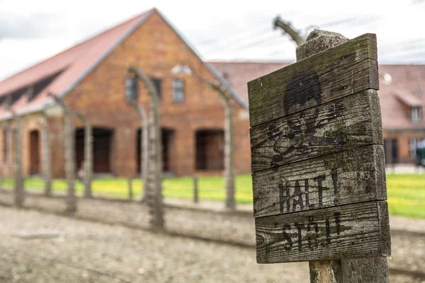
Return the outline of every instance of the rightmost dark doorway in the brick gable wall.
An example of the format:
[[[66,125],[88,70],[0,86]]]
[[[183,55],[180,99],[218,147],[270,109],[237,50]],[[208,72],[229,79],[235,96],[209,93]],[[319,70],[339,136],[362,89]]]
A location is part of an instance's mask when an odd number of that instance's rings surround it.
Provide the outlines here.
[[[196,131],[196,170],[215,171],[225,167],[225,132],[222,129]]]

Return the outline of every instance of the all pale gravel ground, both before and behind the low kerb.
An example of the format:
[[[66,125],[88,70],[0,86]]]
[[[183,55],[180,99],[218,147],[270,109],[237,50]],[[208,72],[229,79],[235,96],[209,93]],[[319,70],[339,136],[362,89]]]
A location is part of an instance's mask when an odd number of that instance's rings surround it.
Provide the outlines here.
[[[10,203],[11,195],[0,193],[0,202]],[[28,197],[26,206],[62,212],[64,202]],[[254,223],[247,216],[168,207],[167,231],[188,238],[142,230],[147,209],[134,202],[79,201],[76,217],[103,223],[6,207],[0,215],[0,282],[309,282],[305,262],[256,264]],[[23,229],[54,229],[61,236],[13,236]],[[423,234],[392,231],[389,264],[392,283],[425,282],[407,274],[425,270]]]

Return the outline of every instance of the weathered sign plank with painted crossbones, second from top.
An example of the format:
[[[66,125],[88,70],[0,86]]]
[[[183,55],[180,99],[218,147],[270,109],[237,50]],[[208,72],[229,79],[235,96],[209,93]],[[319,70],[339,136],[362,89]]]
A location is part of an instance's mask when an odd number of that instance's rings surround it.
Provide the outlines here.
[[[251,127],[251,171],[382,144],[378,93],[362,91]]]

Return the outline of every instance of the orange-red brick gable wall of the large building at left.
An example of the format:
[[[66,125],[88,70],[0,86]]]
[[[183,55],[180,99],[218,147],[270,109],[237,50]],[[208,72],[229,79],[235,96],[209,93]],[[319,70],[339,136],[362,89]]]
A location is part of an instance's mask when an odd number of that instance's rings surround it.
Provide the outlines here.
[[[173,102],[172,81],[176,76],[171,74],[171,69],[186,59],[200,76],[215,79],[174,30],[154,13],[66,96],[67,103],[88,115],[94,127],[114,129],[111,167],[116,175],[135,175],[137,171],[135,134],[140,118],[125,100],[125,75],[130,64],[140,67],[149,76],[162,79],[161,125],[174,130],[171,156],[174,173],[195,173],[197,129],[224,127],[224,104],[220,96],[195,76],[180,76],[185,81],[186,99],[183,103]],[[147,91],[142,83],[138,88],[139,101],[148,109]],[[235,164],[238,173],[248,173],[249,120],[240,111],[246,110],[235,103]],[[81,127],[79,121],[75,122]],[[60,146],[59,141],[55,146]],[[57,158],[54,168],[55,175],[60,175],[62,158]]]

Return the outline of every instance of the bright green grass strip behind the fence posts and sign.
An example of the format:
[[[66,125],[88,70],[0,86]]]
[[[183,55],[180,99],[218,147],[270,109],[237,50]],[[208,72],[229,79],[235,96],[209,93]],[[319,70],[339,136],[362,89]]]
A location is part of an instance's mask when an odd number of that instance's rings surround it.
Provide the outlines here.
[[[12,179],[5,179],[4,185],[13,187]],[[26,178],[25,187],[42,190],[44,182],[40,178]],[[67,185],[63,179],[53,181],[54,191],[64,191]],[[142,183],[132,180],[135,197],[142,192]],[[199,178],[199,198],[201,200],[225,200],[223,178],[220,176]],[[76,180],[77,193],[81,194],[83,185]],[[105,197],[128,197],[127,180],[124,178],[102,178],[93,181],[93,192]],[[163,183],[164,197],[193,198],[192,178],[167,178]],[[425,219],[425,175],[388,174],[387,192],[390,214]],[[251,175],[238,175],[236,178],[236,200],[238,204],[252,203]]]

